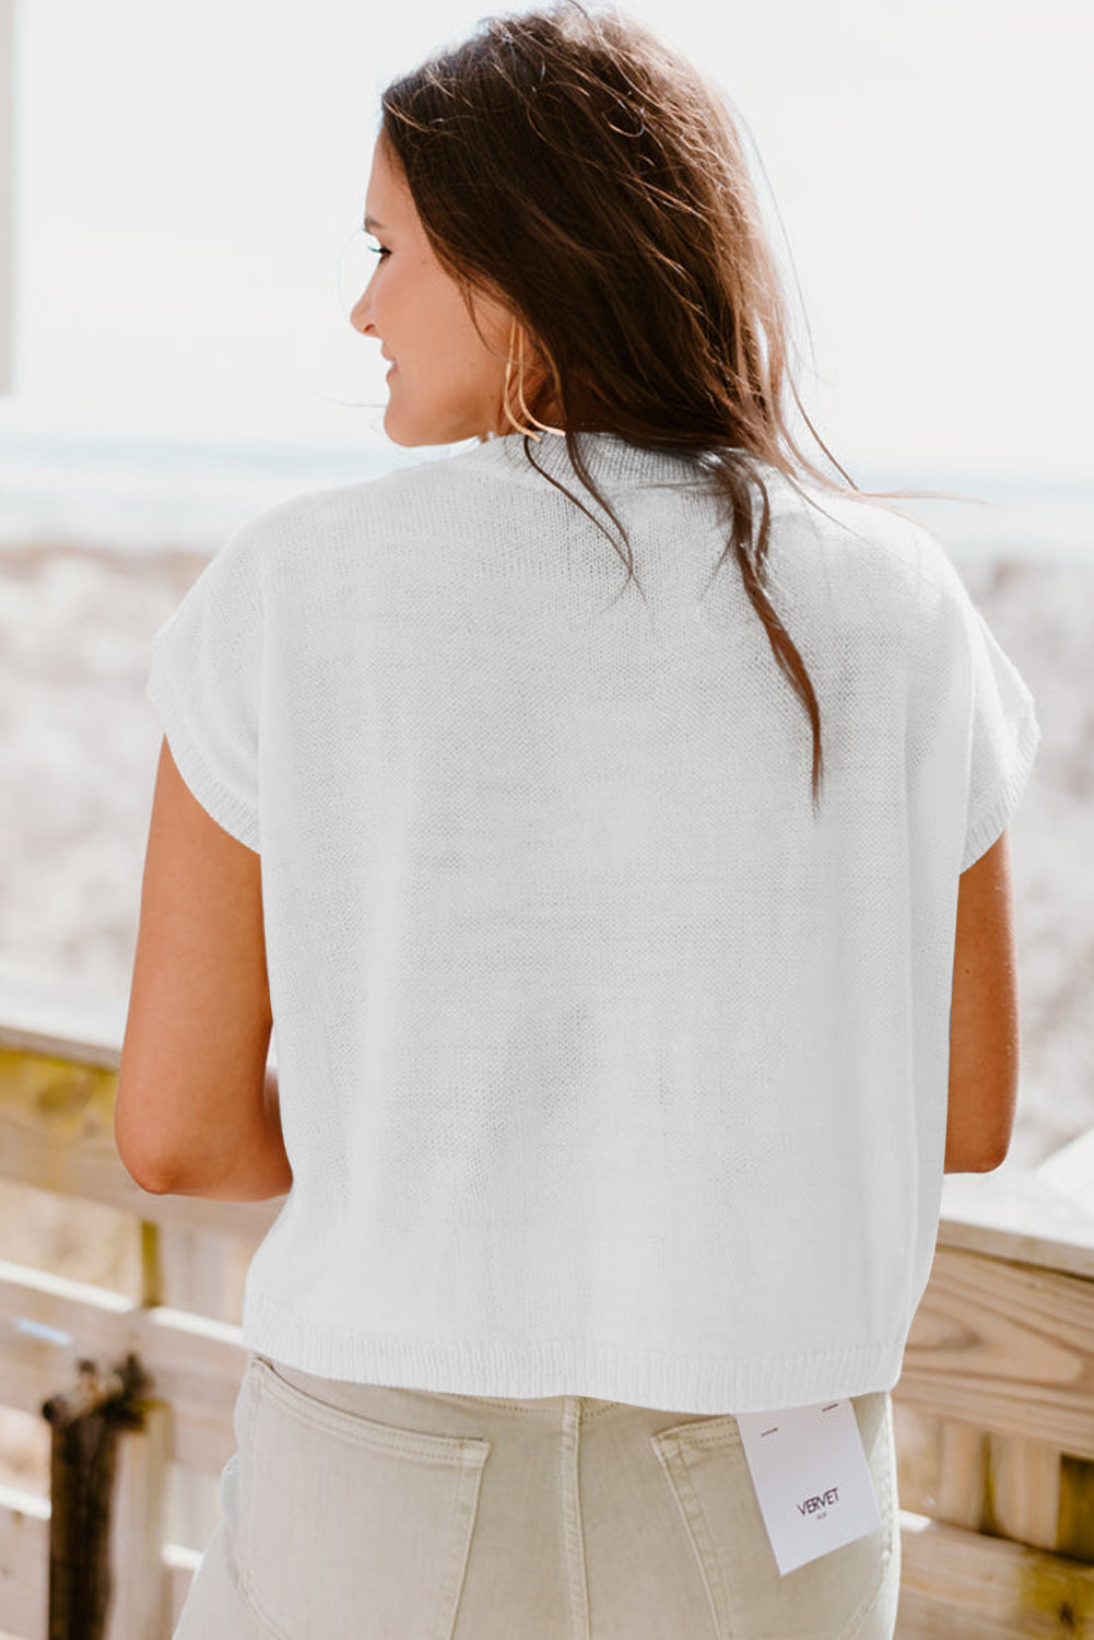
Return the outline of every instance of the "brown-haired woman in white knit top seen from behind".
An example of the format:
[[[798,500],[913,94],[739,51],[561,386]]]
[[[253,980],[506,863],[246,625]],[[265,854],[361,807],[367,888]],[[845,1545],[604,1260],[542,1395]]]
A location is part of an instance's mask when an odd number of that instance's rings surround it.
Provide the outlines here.
[[[887,1637],[941,1176],[1014,1120],[1028,690],[799,449],[738,138],[646,30],[389,87],[366,226],[385,430],[474,443],[248,523],[149,682],[120,1153],[289,1192],[177,1633]],[[873,1514],[791,1438],[795,1560],[743,1438],[817,1409]]]

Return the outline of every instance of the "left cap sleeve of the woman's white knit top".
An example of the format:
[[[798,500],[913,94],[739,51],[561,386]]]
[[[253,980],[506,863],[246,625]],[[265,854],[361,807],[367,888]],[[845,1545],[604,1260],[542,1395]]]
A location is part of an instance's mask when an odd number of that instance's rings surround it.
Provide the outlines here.
[[[144,694],[200,805],[259,851],[262,585],[254,522],[220,548],[153,638]]]

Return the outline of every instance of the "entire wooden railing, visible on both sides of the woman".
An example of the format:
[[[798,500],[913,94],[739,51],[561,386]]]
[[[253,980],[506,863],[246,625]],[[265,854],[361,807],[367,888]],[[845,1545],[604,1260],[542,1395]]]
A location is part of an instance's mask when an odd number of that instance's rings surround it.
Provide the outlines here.
[[[118,1435],[107,1640],[167,1640],[217,1524],[246,1351],[226,1260],[280,1200],[148,1196],[113,1146],[118,1040],[0,999],[0,1179],[139,1223],[139,1296],[0,1263],[0,1405],[80,1361],[148,1381]],[[894,1392],[899,1640],[1094,1637],[1094,1133],[1035,1171],[946,1179]],[[0,1248],[0,1253],[3,1248]],[[51,1504],[0,1487],[0,1637],[44,1640]],[[56,1556],[54,1556],[56,1558]]]

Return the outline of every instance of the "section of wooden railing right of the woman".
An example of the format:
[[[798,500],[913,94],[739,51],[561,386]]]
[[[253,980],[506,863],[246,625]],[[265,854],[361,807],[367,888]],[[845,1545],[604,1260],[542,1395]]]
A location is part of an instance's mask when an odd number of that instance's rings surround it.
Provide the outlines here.
[[[1094,1132],[946,1179],[894,1402],[899,1640],[1094,1637]]]

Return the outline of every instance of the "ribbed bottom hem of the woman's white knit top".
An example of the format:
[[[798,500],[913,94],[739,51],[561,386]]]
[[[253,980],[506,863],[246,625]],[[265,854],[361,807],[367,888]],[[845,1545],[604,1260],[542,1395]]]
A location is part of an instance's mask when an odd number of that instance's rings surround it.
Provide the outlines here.
[[[287,1310],[244,1291],[243,1343],[317,1378],[463,1396],[587,1396],[663,1412],[774,1412],[892,1389],[907,1330],[884,1345],[720,1360],[592,1338],[394,1338]]]

